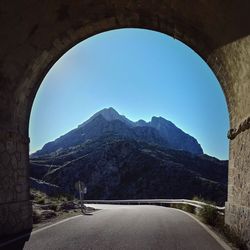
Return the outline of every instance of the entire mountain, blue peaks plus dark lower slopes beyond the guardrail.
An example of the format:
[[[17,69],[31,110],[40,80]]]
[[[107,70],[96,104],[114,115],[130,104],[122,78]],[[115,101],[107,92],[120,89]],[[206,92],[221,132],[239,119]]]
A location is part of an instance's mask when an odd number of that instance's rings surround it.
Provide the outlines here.
[[[162,117],[133,122],[103,109],[30,159],[31,185],[44,192],[76,194],[82,180],[88,199],[226,200],[227,162],[204,155],[194,137]]]

